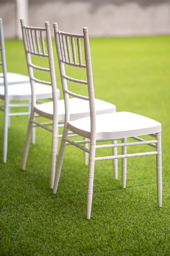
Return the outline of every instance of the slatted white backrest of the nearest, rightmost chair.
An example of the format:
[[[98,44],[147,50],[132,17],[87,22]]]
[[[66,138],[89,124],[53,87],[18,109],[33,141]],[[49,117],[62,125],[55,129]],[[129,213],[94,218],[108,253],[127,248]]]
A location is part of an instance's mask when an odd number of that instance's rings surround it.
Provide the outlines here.
[[[93,73],[88,29],[84,27],[83,35],[80,35],[59,31],[57,23],[54,23],[53,27],[64,94],[66,111],[65,121],[68,122],[70,119],[68,101],[69,97],[76,97],[82,100],[87,100],[89,101],[91,124],[93,124],[93,127],[91,126],[91,130],[93,128],[95,131],[95,95],[93,87]],[[71,70],[67,68],[68,66],[71,67]],[[75,71],[73,71],[73,68],[75,68]],[[84,80],[79,79],[78,69],[85,70]],[[77,94],[77,86],[73,84],[81,85],[80,94]],[[81,92],[84,92],[82,85],[86,85],[87,94],[84,93],[84,95],[82,95]],[[91,138],[91,140],[94,139],[95,141],[95,132],[92,132],[92,136],[93,138]]]

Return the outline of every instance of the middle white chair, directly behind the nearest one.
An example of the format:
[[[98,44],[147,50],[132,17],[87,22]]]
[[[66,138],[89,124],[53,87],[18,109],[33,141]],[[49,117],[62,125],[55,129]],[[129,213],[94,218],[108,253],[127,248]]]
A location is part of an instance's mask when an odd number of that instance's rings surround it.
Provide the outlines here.
[[[22,170],[25,169],[26,160],[29,151],[29,141],[31,137],[31,127],[32,126],[41,126],[46,130],[52,132],[52,147],[51,147],[51,174],[50,174],[50,188],[53,188],[54,183],[54,176],[55,176],[55,164],[56,164],[56,154],[57,154],[57,139],[62,137],[59,134],[59,127],[63,127],[63,121],[65,118],[65,106],[64,106],[64,99],[58,100],[57,99],[57,85],[56,85],[56,78],[55,78],[55,66],[54,66],[54,57],[53,57],[53,47],[51,41],[51,33],[49,22],[45,22],[45,27],[29,27],[24,25],[24,21],[21,19],[21,26],[22,26],[22,37],[24,41],[24,48],[26,53],[26,60],[28,65],[28,71],[31,81],[31,88],[32,88],[32,106],[31,106],[31,115],[29,119],[28,131],[26,135],[26,142],[24,147],[24,154],[22,160]],[[43,35],[44,34],[44,35]],[[46,40],[44,40],[46,38]],[[33,57],[39,57],[40,61],[36,59],[38,64],[34,63]],[[46,65],[44,64],[43,59],[47,59]],[[41,77],[36,77],[36,72],[41,70]],[[43,76],[44,73],[49,73],[48,81],[45,80],[46,74]],[[45,81],[44,81],[45,80]],[[46,83],[51,85],[53,91],[53,101],[42,103],[41,105],[36,104],[36,95],[35,95],[35,82]],[[115,105],[108,103],[106,101],[101,101],[96,99],[97,104],[97,112],[98,113],[106,113],[106,112],[115,112],[116,107]],[[71,99],[70,101],[70,113],[71,119],[77,119],[79,117],[86,117],[89,116],[89,106],[88,102],[84,102],[81,99]],[[48,122],[47,124],[42,124],[36,116],[45,117],[52,121]],[[36,119],[36,120],[35,120]],[[49,124],[52,124],[52,128],[49,127]],[[72,136],[70,134],[70,136]],[[86,159],[85,159],[86,164]],[[115,164],[116,165],[116,164]],[[117,172],[117,168],[115,167],[115,172]]]

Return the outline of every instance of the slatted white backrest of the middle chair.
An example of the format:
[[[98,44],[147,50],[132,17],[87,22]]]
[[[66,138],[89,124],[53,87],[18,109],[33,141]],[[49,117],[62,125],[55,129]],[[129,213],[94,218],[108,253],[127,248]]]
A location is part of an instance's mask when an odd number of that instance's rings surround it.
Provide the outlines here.
[[[32,104],[36,103],[35,83],[50,85],[52,86],[53,108],[56,112],[57,85],[49,22],[45,22],[45,27],[24,25],[23,19],[20,19],[20,22],[31,83]]]

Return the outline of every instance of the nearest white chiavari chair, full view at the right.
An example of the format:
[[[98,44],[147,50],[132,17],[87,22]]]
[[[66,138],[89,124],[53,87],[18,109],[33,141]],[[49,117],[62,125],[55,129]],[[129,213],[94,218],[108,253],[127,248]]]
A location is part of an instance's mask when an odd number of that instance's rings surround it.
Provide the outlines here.
[[[91,65],[91,52],[88,39],[88,29],[83,28],[83,35],[80,34],[68,34],[62,31],[58,31],[57,23],[54,23],[55,42],[57,47],[57,56],[60,66],[60,72],[62,76],[62,86],[64,92],[65,101],[65,124],[63,130],[63,136],[60,146],[60,152],[57,161],[57,168],[55,173],[55,181],[53,187],[53,193],[57,191],[58,182],[60,179],[60,173],[62,169],[62,162],[64,158],[64,148],[66,145],[74,145],[77,148],[89,153],[89,167],[88,167],[88,189],[87,189],[87,207],[86,218],[91,218],[91,206],[93,197],[93,179],[95,161],[108,160],[108,159],[122,159],[122,186],[126,187],[126,158],[156,155],[157,159],[157,199],[158,207],[161,207],[161,124],[148,117],[137,115],[130,112],[115,112],[102,115],[96,115],[95,113],[95,95],[93,87],[93,74]],[[71,42],[71,43],[70,43]],[[77,47],[75,47],[77,45]],[[83,58],[85,56],[85,60]],[[73,58],[78,56],[78,58]],[[83,61],[82,61],[83,58]],[[73,61],[74,59],[74,61]],[[86,80],[82,81],[75,79],[63,73],[64,65],[72,65],[75,68],[84,68],[86,70]],[[77,83],[82,86],[86,85],[88,90],[88,96],[80,95],[72,91],[72,84]],[[80,118],[77,120],[71,120],[70,118],[70,103],[69,97],[76,97],[89,103],[90,117]],[[88,138],[90,143],[90,149],[83,146],[87,141],[74,141],[68,138],[69,132],[73,132],[79,136]],[[140,137],[140,135],[148,135]],[[130,137],[130,141],[127,142],[127,137]],[[103,141],[119,140],[119,143],[104,144]],[[132,141],[131,141],[132,140]],[[134,141],[133,141],[134,140]],[[97,142],[101,143],[97,143]],[[97,143],[97,144],[96,144]],[[108,142],[107,142],[108,143]],[[156,148],[156,150],[149,150],[144,152],[143,148],[140,152],[127,153],[127,146],[133,145],[146,145]],[[121,155],[110,154],[109,156],[96,156],[97,149],[101,148],[122,148]],[[104,153],[104,152],[103,152]]]

